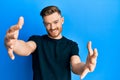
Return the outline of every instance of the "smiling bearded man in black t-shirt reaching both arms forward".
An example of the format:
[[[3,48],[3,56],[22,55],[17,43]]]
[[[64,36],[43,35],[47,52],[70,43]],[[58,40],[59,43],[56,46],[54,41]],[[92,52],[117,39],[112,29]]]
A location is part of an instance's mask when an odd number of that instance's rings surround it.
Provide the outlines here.
[[[77,43],[61,34],[64,18],[58,7],[47,6],[40,15],[47,35],[31,36],[27,42],[18,40],[19,30],[24,23],[23,17],[7,31],[5,45],[11,59],[14,59],[13,52],[21,56],[32,54],[33,80],[71,80],[71,70],[81,78],[92,72],[98,53],[97,49],[92,50],[91,42],[88,42],[89,54],[86,63],[83,63]]]

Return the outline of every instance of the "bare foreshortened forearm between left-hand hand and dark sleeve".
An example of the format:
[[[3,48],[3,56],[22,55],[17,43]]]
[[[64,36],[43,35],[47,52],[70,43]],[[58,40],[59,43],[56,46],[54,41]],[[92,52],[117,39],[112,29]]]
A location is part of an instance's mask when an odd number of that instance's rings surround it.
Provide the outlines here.
[[[33,50],[30,47],[29,42],[17,40],[14,44],[13,51],[20,56],[28,56]]]

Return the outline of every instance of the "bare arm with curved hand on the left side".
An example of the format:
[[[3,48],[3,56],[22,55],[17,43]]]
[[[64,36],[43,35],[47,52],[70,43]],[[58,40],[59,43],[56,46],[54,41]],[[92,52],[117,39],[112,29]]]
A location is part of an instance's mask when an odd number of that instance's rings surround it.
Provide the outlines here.
[[[27,56],[36,49],[36,44],[33,41],[25,42],[18,40],[19,30],[22,28],[24,23],[23,17],[19,18],[16,25],[10,27],[5,36],[5,46],[8,50],[8,54],[11,59],[14,59],[13,51],[21,56]]]

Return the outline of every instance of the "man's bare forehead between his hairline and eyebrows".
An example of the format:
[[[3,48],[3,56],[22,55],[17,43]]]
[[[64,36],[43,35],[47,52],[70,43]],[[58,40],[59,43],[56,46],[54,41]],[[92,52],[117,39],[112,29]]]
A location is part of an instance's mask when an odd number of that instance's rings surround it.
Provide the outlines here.
[[[61,15],[57,12],[51,14],[51,15],[48,15],[48,16],[44,16],[43,17],[43,20],[44,22],[53,22],[55,20],[58,20],[59,18],[61,17]]]

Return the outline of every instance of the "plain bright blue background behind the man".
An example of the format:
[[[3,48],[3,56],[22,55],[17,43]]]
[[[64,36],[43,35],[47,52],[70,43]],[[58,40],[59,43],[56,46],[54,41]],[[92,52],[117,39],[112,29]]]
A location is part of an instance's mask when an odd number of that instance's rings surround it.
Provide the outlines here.
[[[45,34],[39,12],[48,5],[58,6],[64,16],[62,34],[79,44],[81,60],[87,57],[87,42],[99,52],[97,66],[84,80],[120,80],[120,1],[119,0],[1,0],[0,1],[0,80],[32,80],[31,56],[15,55],[12,61],[4,46],[11,25],[24,16],[19,39]],[[47,77],[47,75],[46,75]],[[72,80],[80,80],[72,73]]]

